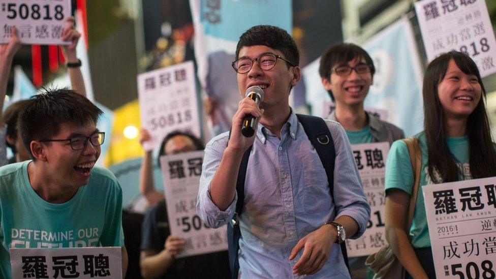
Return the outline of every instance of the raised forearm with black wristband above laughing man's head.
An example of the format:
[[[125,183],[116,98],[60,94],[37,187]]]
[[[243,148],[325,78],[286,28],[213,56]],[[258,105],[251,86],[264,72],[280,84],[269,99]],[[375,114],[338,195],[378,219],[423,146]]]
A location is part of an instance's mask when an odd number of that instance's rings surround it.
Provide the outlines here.
[[[74,17],[66,19],[68,25],[62,33],[62,40],[71,42],[70,45],[63,45],[62,50],[66,56],[66,63],[78,63],[76,46],[81,38],[81,34],[74,28]],[[80,67],[67,67],[67,73],[71,79],[72,89],[78,94],[86,97],[86,88],[84,87],[84,79]]]

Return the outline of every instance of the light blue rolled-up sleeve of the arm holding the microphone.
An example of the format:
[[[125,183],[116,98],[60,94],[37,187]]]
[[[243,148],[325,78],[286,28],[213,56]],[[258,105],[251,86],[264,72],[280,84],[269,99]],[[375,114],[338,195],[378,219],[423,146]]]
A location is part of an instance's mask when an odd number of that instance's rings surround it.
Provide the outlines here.
[[[205,146],[196,210],[203,222],[212,228],[219,228],[227,224],[232,219],[236,209],[237,193],[235,193],[233,201],[225,211],[220,210],[212,202],[210,196],[210,182],[219,168],[228,138],[229,132],[223,133],[211,139]]]

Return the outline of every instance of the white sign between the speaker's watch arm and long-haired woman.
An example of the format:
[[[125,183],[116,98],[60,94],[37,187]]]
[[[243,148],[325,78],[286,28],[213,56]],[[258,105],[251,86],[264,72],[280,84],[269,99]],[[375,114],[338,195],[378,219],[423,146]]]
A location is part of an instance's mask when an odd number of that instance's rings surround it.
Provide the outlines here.
[[[389,142],[353,144],[353,155],[371,214],[367,230],[355,240],[347,239],[348,257],[374,254],[386,243],[384,232],[384,174]]]

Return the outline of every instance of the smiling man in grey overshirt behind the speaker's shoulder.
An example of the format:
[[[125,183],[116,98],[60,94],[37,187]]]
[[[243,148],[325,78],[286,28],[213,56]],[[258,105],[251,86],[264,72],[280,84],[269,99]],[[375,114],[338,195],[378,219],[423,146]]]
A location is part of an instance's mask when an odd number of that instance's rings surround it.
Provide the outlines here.
[[[319,74],[324,88],[336,105],[327,119],[345,128],[351,144],[389,142],[405,133],[363,109],[363,102],[373,83],[374,61],[361,47],[351,43],[331,46],[320,58]],[[350,261],[352,277],[365,276],[366,256]]]

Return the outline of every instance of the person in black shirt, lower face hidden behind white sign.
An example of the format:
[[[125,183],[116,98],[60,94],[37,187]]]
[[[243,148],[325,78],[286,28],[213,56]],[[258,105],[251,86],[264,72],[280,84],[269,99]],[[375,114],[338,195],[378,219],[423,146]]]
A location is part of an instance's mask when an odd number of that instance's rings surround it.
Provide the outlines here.
[[[140,141],[149,139],[148,132],[141,130]],[[189,133],[171,132],[160,146],[160,157],[194,150],[203,150],[201,140]],[[140,192],[151,203],[141,230],[141,275],[144,278],[228,278],[229,266],[226,252],[175,259],[181,252],[184,240],[170,232],[164,194],[153,187],[151,150],[145,153],[141,165]],[[159,197],[161,198],[160,200]]]

